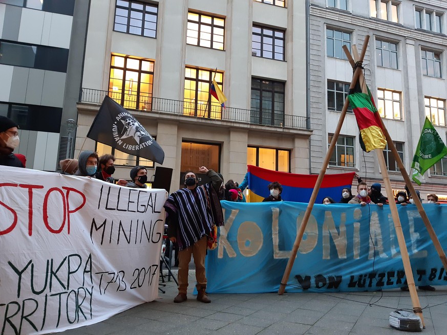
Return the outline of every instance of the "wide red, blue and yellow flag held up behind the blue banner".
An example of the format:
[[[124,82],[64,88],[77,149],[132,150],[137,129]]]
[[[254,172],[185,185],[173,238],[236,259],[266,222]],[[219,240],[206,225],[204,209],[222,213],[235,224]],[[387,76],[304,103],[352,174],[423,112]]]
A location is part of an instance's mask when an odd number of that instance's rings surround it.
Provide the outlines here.
[[[351,188],[353,177],[354,172],[325,174],[315,204],[321,204],[327,196],[338,202],[342,197],[343,188]],[[265,197],[270,195],[268,184],[278,182],[283,187],[281,198],[284,201],[309,203],[317,178],[317,174],[278,172],[248,165],[249,202],[262,202]]]

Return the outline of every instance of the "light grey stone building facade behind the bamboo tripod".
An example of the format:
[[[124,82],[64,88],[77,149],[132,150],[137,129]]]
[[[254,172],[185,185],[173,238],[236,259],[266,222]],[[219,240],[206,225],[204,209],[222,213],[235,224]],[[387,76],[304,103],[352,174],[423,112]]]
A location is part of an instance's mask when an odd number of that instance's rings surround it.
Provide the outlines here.
[[[446,141],[446,1],[311,0],[309,23],[311,172],[318,173],[328,151],[352,78],[341,47],[364,48],[365,78],[382,120],[407,172],[428,116]],[[368,184],[381,182],[375,152],[360,149],[359,131],[348,109],[328,171],[356,171]],[[405,186],[392,153],[384,150],[395,190]],[[447,193],[447,160],[425,174],[427,193]],[[383,188],[382,188],[383,190]],[[355,193],[355,191],[354,191]]]

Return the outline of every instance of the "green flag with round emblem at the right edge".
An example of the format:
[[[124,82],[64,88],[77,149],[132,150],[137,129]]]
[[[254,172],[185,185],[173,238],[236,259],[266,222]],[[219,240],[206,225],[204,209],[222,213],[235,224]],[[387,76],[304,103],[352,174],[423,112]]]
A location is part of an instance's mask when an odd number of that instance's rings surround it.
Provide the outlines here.
[[[425,123],[413,157],[413,180],[420,185],[422,175],[447,154],[447,147],[429,118]]]

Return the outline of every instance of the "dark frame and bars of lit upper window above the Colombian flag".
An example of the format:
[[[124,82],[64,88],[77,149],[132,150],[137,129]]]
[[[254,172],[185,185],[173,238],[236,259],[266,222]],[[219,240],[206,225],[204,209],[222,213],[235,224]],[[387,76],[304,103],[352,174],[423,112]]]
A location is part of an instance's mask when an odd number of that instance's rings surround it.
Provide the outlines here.
[[[191,16],[197,15],[197,21],[191,19]],[[203,19],[202,19],[203,18]],[[205,18],[209,18],[211,23],[207,23]],[[223,20],[223,25],[217,25],[215,23],[215,20]],[[214,49],[214,50],[222,50],[225,51],[225,18],[224,17],[219,17],[216,15],[205,15],[199,12],[195,12],[195,11],[188,11],[188,16],[187,16],[187,27],[186,27],[186,44],[189,44],[190,46],[197,46],[197,47],[203,47],[203,48],[208,48],[208,49]],[[190,27],[192,27],[193,25],[197,25],[197,30],[195,29],[190,29]],[[203,27],[209,27],[209,32],[205,30],[205,28]],[[215,33],[215,30],[217,29],[222,29],[222,35]],[[190,32],[197,32],[197,36],[191,36]],[[209,34],[210,35],[210,39],[207,40],[205,38],[202,38],[202,36],[204,36],[205,34]],[[217,36],[222,36],[222,41],[217,41]],[[191,39],[197,39],[197,42],[195,43],[191,43],[190,40]],[[202,43],[203,41],[203,43]],[[206,41],[209,41],[209,47],[204,45],[206,43]],[[218,48],[215,47],[214,44],[222,44],[222,48]]]

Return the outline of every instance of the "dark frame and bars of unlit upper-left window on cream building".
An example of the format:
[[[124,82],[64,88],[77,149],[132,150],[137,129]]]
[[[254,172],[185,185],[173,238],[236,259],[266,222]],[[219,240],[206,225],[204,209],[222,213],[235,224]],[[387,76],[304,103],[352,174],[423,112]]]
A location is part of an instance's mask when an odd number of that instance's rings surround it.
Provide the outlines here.
[[[127,2],[129,4],[129,6],[125,7],[125,6],[119,5],[120,2]],[[133,8],[132,7],[133,4],[141,5],[141,6],[143,6],[143,8],[142,9]],[[155,9],[155,12],[148,11],[147,10],[148,8]],[[123,11],[127,10],[127,17],[123,16],[123,15],[118,15],[118,10],[123,10]],[[132,15],[133,15],[132,13],[141,13],[141,19],[132,17]],[[150,15],[155,15],[155,29],[145,28],[146,22],[154,23],[153,21],[146,20],[146,16],[150,16]],[[126,23],[125,24],[117,23],[117,17],[126,17],[127,18]],[[140,20],[141,21],[141,26],[140,26],[141,33],[137,34],[135,32],[131,32],[132,27],[138,28],[138,26],[131,25],[132,20]],[[126,27],[125,31],[117,30],[116,25],[125,26]],[[113,31],[125,33],[125,34],[137,35],[137,36],[157,38],[157,27],[158,27],[158,5],[153,4],[153,3],[145,3],[145,2],[141,2],[141,1],[136,1],[136,0],[116,0],[115,1],[115,17],[113,20]],[[153,36],[152,36],[152,34],[146,35],[145,34],[146,30],[153,31],[154,35]]]

